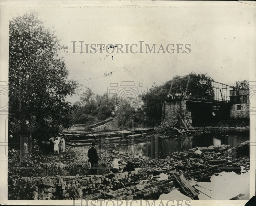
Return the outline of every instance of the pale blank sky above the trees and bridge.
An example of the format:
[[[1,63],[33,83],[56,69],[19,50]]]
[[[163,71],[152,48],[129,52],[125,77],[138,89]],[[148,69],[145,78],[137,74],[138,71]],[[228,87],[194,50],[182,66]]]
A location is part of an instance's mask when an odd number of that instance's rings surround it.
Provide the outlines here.
[[[119,86],[122,81],[150,88],[154,82],[161,85],[174,75],[192,71],[207,73],[228,85],[250,78],[255,17],[247,4],[111,1],[98,6],[90,1],[58,5],[48,1],[13,1],[9,8],[9,18],[29,9],[38,11],[45,27],[54,26],[57,38],[68,46],[64,57],[70,78],[82,85],[77,95],[68,98],[71,102],[78,101],[86,87],[98,94],[108,92],[111,83]],[[161,44],[164,48],[168,44],[190,44],[191,52],[108,54],[97,50],[94,54],[80,54],[79,48],[72,53],[72,41],[76,41],[76,46],[84,41],[89,48],[91,44],[130,46],[143,41],[150,47],[156,44],[156,52]]]

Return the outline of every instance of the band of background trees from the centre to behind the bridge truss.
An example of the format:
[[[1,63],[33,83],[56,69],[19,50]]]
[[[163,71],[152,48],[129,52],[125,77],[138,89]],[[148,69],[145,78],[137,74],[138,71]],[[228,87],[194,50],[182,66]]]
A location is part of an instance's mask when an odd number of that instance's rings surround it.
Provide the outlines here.
[[[191,76],[190,81],[194,83],[189,83],[186,94],[191,93],[191,95],[196,95],[195,90],[197,89],[198,97],[214,99],[214,91],[210,81],[213,79],[206,74],[191,74],[204,79]],[[92,123],[103,121],[111,117],[110,109],[115,112],[115,117],[117,117],[114,121],[117,121],[119,126],[123,125],[124,128],[136,126],[136,123],[142,120],[159,121],[162,117],[162,103],[166,101],[166,96],[169,93],[172,81],[173,87],[171,94],[184,95],[187,78],[187,76],[181,77],[183,81],[177,79],[174,81],[170,80],[160,86],[154,83],[148,90],[147,95],[140,96],[143,104],[139,108],[133,108],[131,106],[134,105],[134,99],[132,98],[124,99],[122,101],[124,107],[122,108],[118,107],[116,102],[118,100],[116,100],[115,96],[107,97],[106,93],[104,95],[95,95],[91,89],[87,88],[87,91],[81,95],[80,101],[76,102],[78,111],[73,115],[73,121],[75,124],[80,123],[90,126]],[[197,85],[195,83],[197,83]],[[143,114],[144,116],[142,116]]]

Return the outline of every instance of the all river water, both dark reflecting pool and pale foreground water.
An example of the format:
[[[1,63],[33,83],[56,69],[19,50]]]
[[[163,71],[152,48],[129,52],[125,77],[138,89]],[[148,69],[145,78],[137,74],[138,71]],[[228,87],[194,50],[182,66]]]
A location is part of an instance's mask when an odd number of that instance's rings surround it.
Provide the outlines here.
[[[249,131],[240,132],[238,135],[238,143],[249,140]],[[169,153],[175,151],[184,151],[191,148],[208,147],[211,145],[226,144],[225,133],[205,133],[183,138],[152,138],[143,143],[133,145],[116,146],[112,149],[121,153],[132,153],[145,159],[166,158]],[[199,200],[228,200],[236,197],[240,193],[243,194],[241,200],[249,199],[249,171],[220,172],[218,176],[212,175],[210,182],[197,182],[201,187],[195,186],[201,193],[198,195]],[[161,180],[167,179],[168,175],[161,173]],[[159,179],[159,180],[160,180]],[[204,189],[204,188],[207,189]],[[205,193],[205,194],[204,194]],[[168,194],[161,194],[159,199],[190,199],[182,194],[179,190],[172,190]]]

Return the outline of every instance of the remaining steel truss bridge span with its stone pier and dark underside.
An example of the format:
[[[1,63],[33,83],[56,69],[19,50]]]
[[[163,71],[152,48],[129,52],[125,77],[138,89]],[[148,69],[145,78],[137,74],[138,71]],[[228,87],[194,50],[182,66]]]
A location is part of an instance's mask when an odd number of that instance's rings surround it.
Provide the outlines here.
[[[233,86],[193,74],[174,77],[162,107],[162,122],[185,127],[210,126],[230,117]]]

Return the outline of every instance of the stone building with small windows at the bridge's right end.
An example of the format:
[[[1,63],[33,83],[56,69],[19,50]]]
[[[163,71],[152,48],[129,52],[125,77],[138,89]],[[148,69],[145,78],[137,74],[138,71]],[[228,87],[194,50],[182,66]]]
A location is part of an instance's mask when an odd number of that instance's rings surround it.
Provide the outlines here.
[[[249,89],[230,90],[230,118],[249,118]]]

